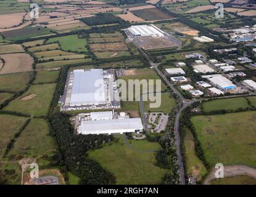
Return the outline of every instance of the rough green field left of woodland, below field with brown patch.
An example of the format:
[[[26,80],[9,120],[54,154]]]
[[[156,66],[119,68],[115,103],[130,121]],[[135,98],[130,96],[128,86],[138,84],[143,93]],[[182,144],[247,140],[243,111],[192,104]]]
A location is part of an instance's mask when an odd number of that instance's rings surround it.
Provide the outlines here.
[[[30,123],[15,140],[7,157],[19,160],[20,158],[39,158],[56,151],[56,143],[49,135],[49,126],[44,119],[31,119]]]

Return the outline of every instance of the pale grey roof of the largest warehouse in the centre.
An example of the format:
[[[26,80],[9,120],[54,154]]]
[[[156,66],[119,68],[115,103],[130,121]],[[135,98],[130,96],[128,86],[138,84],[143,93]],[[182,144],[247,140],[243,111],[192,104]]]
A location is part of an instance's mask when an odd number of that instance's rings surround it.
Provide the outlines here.
[[[94,105],[105,103],[102,69],[74,70],[70,105]],[[97,84],[100,84],[98,87]]]

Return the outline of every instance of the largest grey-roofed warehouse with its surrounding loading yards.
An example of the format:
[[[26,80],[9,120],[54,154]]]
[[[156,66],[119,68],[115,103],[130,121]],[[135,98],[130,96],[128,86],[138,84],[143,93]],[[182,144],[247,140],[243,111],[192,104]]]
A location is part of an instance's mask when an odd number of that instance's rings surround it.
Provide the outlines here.
[[[95,110],[120,108],[112,70],[74,70],[68,73],[60,102],[61,110]]]

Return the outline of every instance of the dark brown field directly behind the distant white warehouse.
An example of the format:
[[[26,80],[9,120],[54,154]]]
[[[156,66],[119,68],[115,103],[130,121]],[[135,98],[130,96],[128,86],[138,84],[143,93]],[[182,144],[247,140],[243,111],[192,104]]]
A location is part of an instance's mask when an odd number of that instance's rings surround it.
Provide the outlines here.
[[[173,18],[171,15],[166,14],[160,9],[151,8],[151,9],[142,9],[131,11],[134,15],[144,20],[166,20]]]

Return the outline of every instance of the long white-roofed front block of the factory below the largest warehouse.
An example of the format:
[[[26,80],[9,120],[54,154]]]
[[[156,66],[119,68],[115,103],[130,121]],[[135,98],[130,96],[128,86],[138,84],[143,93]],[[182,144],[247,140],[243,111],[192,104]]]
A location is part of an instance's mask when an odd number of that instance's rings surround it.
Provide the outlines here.
[[[101,119],[97,121],[81,121],[78,126],[79,134],[123,134],[126,132],[142,131],[140,118]]]

